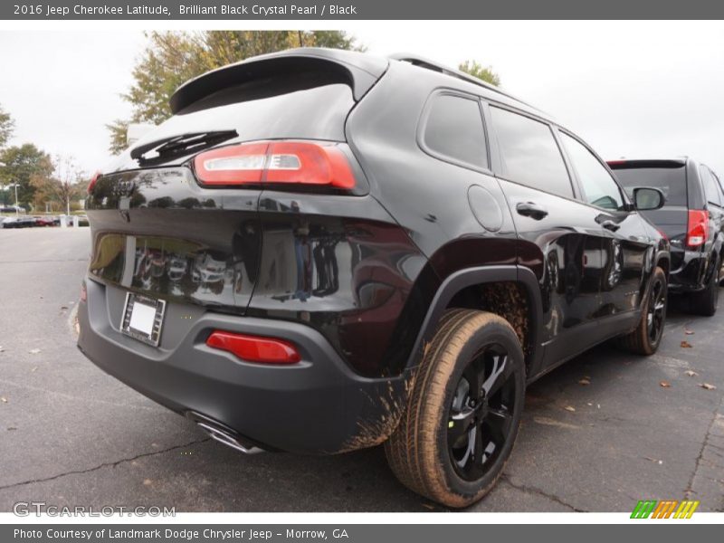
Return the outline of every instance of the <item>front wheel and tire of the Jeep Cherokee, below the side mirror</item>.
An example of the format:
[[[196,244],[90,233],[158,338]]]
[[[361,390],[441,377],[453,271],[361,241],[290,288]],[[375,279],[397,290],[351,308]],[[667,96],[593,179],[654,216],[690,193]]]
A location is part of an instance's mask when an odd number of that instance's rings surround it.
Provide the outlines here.
[[[653,271],[651,283],[646,291],[646,299],[642,303],[638,326],[633,332],[619,338],[621,346],[634,355],[651,356],[662,342],[666,309],[669,303],[667,282],[666,273],[657,267]]]

